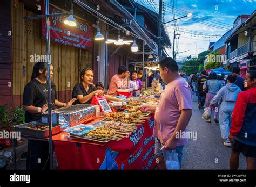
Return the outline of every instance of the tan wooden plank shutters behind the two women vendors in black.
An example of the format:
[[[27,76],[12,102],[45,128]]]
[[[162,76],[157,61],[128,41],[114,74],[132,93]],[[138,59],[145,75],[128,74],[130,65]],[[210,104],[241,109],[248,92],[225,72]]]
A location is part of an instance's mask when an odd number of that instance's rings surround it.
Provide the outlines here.
[[[35,64],[30,60],[31,55],[46,54],[46,40],[41,39],[41,19],[24,20],[26,15],[33,15],[33,12],[25,10],[23,3],[12,6],[13,107],[22,106],[23,90],[30,81]],[[92,52],[56,42],[51,42],[50,47],[57,97],[61,102],[68,102],[74,85],[79,82],[80,69],[92,68]]]

